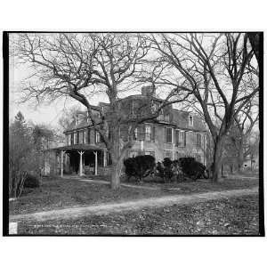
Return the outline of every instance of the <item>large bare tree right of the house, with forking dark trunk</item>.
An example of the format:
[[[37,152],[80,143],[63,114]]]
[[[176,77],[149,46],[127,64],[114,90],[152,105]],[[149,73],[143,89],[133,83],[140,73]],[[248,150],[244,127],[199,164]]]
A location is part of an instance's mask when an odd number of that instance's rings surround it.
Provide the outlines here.
[[[160,83],[192,93],[188,101],[194,101],[205,117],[214,142],[216,182],[225,137],[234,118],[259,91],[256,74],[247,70],[254,63],[247,34],[163,34],[151,40],[162,60],[176,71],[175,79],[164,77]]]

